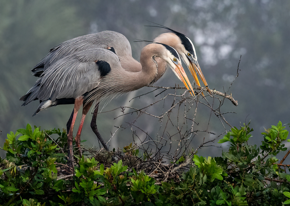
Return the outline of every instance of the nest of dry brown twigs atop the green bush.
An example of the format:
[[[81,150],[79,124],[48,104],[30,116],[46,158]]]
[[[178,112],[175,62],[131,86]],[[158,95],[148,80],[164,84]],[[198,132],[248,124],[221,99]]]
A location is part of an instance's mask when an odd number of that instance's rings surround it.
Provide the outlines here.
[[[184,161],[179,164],[167,163],[163,161],[162,158],[147,158],[144,160],[138,156],[134,156],[130,150],[127,151],[117,151],[117,152],[108,152],[105,149],[87,149],[83,148],[85,158],[94,157],[95,160],[103,164],[104,167],[111,167],[113,163],[119,162],[122,160],[123,166],[128,166],[128,171],[144,171],[145,174],[154,178],[156,183],[161,183],[162,181],[173,180],[175,182],[180,181],[180,175],[189,169],[191,165],[191,158],[188,155],[184,155]],[[114,156],[115,161],[112,160]],[[157,157],[157,156],[155,156]],[[75,158],[77,160],[77,158]],[[75,161],[77,164],[77,161]],[[58,164],[58,179],[69,178],[73,176],[70,168],[67,165]]]

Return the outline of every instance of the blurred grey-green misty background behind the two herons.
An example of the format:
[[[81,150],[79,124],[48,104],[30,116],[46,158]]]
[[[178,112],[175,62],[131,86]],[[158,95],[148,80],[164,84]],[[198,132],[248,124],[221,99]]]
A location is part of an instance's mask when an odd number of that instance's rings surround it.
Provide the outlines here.
[[[260,145],[264,127],[267,129],[271,125],[277,125],[278,121],[282,124],[290,122],[290,1],[10,0],[0,2],[0,19],[1,146],[7,133],[10,131],[15,133],[17,129],[25,128],[27,123],[32,127],[41,126],[42,129],[66,128],[73,105],[51,107],[32,118],[39,102],[35,101],[21,107],[22,102],[19,101],[37,80],[30,69],[48,54],[50,48],[81,35],[114,30],[127,37],[131,43],[133,57],[139,60],[140,51],[146,43],[134,41],[136,39],[152,41],[159,34],[167,32],[162,28],[145,27],[154,25],[148,21],[179,31],[193,41],[198,62],[211,89],[228,91],[237,74],[242,55],[239,76],[230,88],[232,96],[238,100],[238,106],[225,100],[221,111],[235,112],[224,115],[235,127],[239,127],[240,122],[243,124],[251,120],[250,127],[253,127],[254,131],[249,144]],[[186,65],[184,69],[193,82]],[[174,86],[175,83],[182,85],[168,69],[154,85]],[[161,91],[135,98],[130,102],[129,100],[153,89],[144,87],[122,95],[105,107],[102,103],[100,109],[110,111],[120,106],[140,109],[161,99],[162,95],[155,97]],[[211,97],[206,98],[213,103]],[[150,112],[154,115],[162,114],[164,107],[170,108],[164,104],[156,104]],[[168,104],[171,105],[172,102]],[[111,137],[111,132],[115,132],[114,126],[127,127],[138,115],[133,113],[114,119],[122,114],[121,110],[98,115],[97,125],[105,141]],[[87,115],[81,139],[88,140],[84,144],[89,147],[99,147],[96,136],[90,129],[91,117],[91,114]],[[75,128],[78,127],[79,120],[80,117],[76,121]],[[220,120],[202,104],[198,106],[195,122],[198,123],[195,124],[195,129],[207,129],[216,135],[199,133],[194,137],[191,145],[193,148],[196,148],[203,138],[208,141],[225,131]],[[190,127],[191,122],[187,124]],[[151,116],[143,114],[134,125],[132,129],[140,138],[146,138],[146,132],[152,138],[161,135],[160,122]],[[174,128],[176,129],[174,123],[168,124],[168,133]],[[230,129],[228,125],[225,125],[225,128]],[[77,129],[74,131],[76,133]],[[166,135],[163,138],[166,138]],[[125,130],[119,129],[109,143],[110,149],[123,148],[132,141],[130,127]],[[214,145],[221,146],[217,143]],[[286,147],[289,146],[289,143],[286,144]],[[226,145],[223,147],[226,150]],[[198,154],[215,156],[221,152],[222,148],[205,147],[199,150]],[[0,151],[0,155],[5,156],[3,151]],[[281,156],[284,154],[278,158]]]

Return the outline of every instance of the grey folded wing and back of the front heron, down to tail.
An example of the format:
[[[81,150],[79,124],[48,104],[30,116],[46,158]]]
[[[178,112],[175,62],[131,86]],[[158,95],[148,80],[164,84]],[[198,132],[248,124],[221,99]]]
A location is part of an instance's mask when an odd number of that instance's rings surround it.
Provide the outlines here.
[[[96,88],[101,80],[95,61],[103,60],[121,67],[119,58],[107,49],[81,51],[60,59],[50,66],[35,85],[20,100],[23,105],[33,100],[77,98]]]

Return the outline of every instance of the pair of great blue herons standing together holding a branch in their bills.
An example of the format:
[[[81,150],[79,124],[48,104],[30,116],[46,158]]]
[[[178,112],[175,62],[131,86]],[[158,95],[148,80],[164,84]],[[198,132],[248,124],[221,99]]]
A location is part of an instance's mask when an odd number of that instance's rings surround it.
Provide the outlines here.
[[[100,100],[153,84],[164,74],[167,66],[194,95],[191,83],[182,68],[180,56],[196,84],[200,86],[196,75],[198,73],[207,91],[211,93],[197,62],[192,41],[180,32],[161,25],[158,27],[166,28],[170,32],[159,35],[153,43],[141,50],[140,63],[132,57],[131,45],[124,35],[114,31],[103,31],[76,37],[55,46],[32,69],[33,75],[39,79],[26,95],[20,98],[24,101],[22,105],[39,100],[40,105],[34,113],[36,115],[50,106],[74,104],[67,123],[70,168],[73,169],[73,127],[82,104],[81,122],[75,137],[80,155],[81,129],[93,102],[96,104],[91,127],[108,150],[96,125]]]

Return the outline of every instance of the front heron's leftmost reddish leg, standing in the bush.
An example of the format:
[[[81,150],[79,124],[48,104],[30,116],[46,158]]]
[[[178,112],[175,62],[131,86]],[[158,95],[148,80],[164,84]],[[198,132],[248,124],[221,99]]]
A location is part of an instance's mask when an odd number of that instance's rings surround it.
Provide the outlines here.
[[[77,112],[79,111],[79,108],[81,107],[81,104],[83,103],[84,99],[83,97],[79,97],[75,99],[75,106],[73,111],[73,119],[70,124],[70,129],[68,132],[68,166],[74,171],[74,165],[73,165],[73,127],[75,125],[75,119],[77,117]]]

